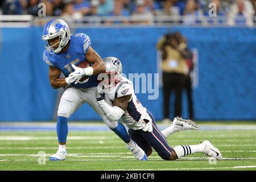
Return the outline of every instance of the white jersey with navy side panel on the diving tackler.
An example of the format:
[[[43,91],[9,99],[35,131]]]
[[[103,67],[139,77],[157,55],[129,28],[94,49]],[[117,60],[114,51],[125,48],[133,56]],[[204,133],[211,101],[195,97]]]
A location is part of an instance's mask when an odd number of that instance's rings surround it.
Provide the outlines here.
[[[141,102],[137,99],[133,89],[133,82],[127,78],[122,77],[120,82],[106,90],[106,94],[112,102],[115,98],[131,95],[127,109],[121,117],[121,121],[126,123],[129,129],[143,129],[145,125],[143,119],[147,119],[148,121],[152,120],[147,114],[147,109],[143,107]]]

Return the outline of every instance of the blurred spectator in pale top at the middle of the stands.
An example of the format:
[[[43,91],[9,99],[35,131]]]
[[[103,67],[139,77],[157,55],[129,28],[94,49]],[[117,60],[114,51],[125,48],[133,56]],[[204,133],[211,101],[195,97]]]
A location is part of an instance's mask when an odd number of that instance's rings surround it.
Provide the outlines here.
[[[146,11],[146,6],[143,0],[136,1],[136,11],[131,15],[132,23],[152,24],[154,17],[150,11]]]

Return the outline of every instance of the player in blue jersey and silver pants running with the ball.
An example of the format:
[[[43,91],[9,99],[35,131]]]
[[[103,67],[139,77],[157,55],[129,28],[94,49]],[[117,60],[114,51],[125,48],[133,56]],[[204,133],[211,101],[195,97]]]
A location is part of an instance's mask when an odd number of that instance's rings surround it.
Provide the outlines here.
[[[96,90],[97,73],[105,70],[105,64],[96,51],[90,46],[90,38],[86,34],[71,35],[68,24],[61,19],[49,21],[43,30],[42,39],[46,42],[43,60],[49,65],[49,81],[54,89],[65,87],[57,111],[57,138],[59,150],[49,160],[65,160],[65,147],[68,135],[68,118],[84,103],[88,103],[101,116],[106,125],[125,143],[138,160],[146,160],[147,156],[138,145],[130,139],[125,126],[111,121],[98,105]],[[82,61],[92,64],[88,68],[76,65]],[[65,78],[60,78],[60,73]],[[80,79],[88,76],[84,81]],[[106,101],[111,104],[110,101]]]

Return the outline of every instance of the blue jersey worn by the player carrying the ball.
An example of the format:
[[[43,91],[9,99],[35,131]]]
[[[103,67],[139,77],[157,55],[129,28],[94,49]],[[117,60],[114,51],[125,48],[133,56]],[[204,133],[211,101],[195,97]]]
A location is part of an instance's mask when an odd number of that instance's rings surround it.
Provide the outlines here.
[[[43,60],[51,67],[60,69],[61,72],[68,77],[70,73],[75,71],[72,68],[72,64],[76,66],[82,61],[86,60],[85,54],[90,47],[90,38],[85,34],[75,34],[71,36],[69,40],[69,48],[67,52],[50,54],[46,49],[43,53]],[[89,77],[89,80],[85,84],[72,84],[72,86],[79,88],[90,88],[98,85],[97,74]]]

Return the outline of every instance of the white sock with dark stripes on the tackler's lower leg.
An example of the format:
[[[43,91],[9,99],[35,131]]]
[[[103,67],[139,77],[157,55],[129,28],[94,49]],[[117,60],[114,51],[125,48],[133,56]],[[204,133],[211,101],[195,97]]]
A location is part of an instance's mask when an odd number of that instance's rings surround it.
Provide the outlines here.
[[[174,147],[174,150],[178,158],[181,158],[185,155],[190,155],[197,152],[205,152],[205,146],[203,144],[196,144],[193,146],[176,146]]]

